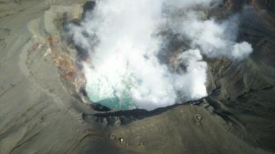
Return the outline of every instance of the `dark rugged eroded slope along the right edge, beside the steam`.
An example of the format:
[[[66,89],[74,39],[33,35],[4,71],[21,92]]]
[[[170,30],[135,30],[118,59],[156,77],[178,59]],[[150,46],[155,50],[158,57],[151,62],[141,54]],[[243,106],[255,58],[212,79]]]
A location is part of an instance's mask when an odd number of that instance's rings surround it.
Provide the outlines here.
[[[237,2],[235,2],[237,3]],[[243,62],[214,60],[210,96],[219,101],[254,138],[274,149],[274,3],[250,1],[257,11],[243,15],[239,40],[252,42],[254,52]],[[213,86],[214,85],[214,86]]]

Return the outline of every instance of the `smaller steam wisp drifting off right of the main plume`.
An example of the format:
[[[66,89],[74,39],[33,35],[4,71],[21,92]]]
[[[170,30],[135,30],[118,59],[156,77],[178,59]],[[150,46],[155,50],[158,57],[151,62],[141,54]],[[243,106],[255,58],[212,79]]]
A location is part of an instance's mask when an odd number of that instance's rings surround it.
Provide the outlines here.
[[[168,18],[168,28],[188,38],[192,49],[199,48],[208,57],[225,56],[241,60],[252,53],[252,46],[248,42],[236,42],[239,16],[219,22],[214,18],[203,20],[204,16],[203,12],[188,11],[176,18]]]

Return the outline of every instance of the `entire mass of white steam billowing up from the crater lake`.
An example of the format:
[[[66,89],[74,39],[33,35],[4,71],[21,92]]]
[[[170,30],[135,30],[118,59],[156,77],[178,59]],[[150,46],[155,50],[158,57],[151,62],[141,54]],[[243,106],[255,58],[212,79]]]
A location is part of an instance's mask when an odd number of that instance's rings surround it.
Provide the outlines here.
[[[219,3],[98,1],[80,25],[69,25],[74,43],[89,53],[83,66],[91,101],[113,109],[153,110],[206,97],[208,67],[202,55],[241,60],[252,53],[248,42],[236,42],[238,16],[217,21],[193,9],[208,9]],[[170,64],[158,57],[168,42],[162,31],[189,44],[187,50],[169,57]]]

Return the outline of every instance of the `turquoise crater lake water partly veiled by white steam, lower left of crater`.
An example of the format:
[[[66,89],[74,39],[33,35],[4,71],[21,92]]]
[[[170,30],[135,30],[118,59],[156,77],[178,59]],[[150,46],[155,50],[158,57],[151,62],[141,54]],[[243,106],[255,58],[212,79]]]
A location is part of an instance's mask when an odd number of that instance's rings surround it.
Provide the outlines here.
[[[131,75],[122,78],[122,80],[116,78],[110,81],[104,75],[94,74],[91,83],[87,84],[87,93],[89,99],[94,103],[113,110],[131,110],[137,107],[131,96],[133,86]]]

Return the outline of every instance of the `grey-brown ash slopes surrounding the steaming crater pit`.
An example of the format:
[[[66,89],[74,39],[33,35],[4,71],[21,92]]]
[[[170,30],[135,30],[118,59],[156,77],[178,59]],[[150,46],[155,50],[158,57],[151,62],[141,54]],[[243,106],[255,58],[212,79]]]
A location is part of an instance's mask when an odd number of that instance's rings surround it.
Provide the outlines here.
[[[201,103],[111,113],[74,97],[48,52],[58,36],[49,20],[81,14],[83,3],[1,1],[1,154],[274,153],[274,1],[228,0],[210,12],[226,16],[244,3],[266,10],[243,16],[239,40],[254,48],[247,60],[208,60],[210,95]]]

